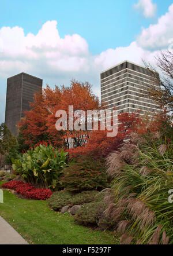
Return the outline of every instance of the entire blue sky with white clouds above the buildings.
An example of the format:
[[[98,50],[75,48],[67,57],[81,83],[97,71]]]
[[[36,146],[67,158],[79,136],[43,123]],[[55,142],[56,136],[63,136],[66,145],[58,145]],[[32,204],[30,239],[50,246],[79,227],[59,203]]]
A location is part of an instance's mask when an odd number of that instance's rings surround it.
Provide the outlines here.
[[[88,81],[123,60],[156,64],[173,49],[173,0],[0,0],[0,123],[6,79],[26,72],[43,86]]]

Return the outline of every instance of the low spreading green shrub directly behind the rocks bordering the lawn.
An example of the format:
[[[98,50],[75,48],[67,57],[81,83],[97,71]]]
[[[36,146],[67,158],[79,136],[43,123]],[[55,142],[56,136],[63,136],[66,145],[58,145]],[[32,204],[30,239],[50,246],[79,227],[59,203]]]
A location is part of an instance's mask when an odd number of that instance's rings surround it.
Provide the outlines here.
[[[83,191],[73,195],[69,191],[56,191],[48,199],[48,206],[54,211],[59,211],[63,206],[89,203],[95,200],[97,191]]]

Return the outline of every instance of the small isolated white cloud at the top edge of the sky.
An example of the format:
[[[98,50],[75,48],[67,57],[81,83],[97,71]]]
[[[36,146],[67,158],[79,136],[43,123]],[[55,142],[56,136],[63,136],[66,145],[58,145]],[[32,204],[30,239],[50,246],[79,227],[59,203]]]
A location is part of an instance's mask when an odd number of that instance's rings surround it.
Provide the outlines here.
[[[155,17],[157,5],[153,3],[153,0],[138,0],[137,4],[134,4],[134,8],[141,10],[145,18]]]

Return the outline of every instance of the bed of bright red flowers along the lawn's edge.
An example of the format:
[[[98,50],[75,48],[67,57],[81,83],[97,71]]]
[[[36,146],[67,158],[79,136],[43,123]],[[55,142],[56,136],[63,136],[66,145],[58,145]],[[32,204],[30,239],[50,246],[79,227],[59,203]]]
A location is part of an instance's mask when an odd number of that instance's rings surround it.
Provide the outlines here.
[[[2,188],[13,189],[25,198],[36,200],[47,200],[52,195],[50,189],[35,188],[31,184],[24,183],[23,181],[9,181],[2,184]]]

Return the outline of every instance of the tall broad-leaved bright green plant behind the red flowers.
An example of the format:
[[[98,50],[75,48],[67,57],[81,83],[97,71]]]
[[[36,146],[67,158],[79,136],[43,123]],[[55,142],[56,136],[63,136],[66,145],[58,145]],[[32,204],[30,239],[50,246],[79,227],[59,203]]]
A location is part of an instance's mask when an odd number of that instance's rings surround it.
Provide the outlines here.
[[[46,188],[58,188],[59,178],[67,162],[67,152],[52,147],[39,145],[31,148],[18,159],[12,159],[13,170],[20,173],[25,181]]]

